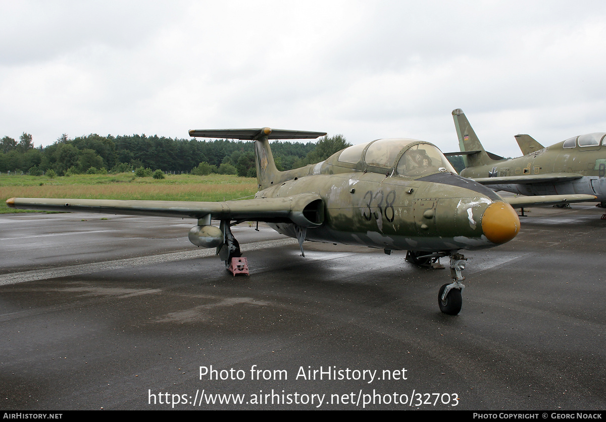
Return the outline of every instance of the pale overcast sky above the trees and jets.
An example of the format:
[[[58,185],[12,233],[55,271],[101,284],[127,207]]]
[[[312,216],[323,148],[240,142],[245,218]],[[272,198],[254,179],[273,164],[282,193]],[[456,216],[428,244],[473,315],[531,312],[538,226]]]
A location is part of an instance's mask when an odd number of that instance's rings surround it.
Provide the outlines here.
[[[606,131],[604,1],[0,0],[0,137],[327,131],[458,150]]]

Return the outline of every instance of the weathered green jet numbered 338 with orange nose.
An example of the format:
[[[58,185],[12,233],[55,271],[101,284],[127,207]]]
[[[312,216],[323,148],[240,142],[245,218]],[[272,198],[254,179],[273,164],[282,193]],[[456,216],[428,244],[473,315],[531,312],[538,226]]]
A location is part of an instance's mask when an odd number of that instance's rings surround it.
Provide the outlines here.
[[[12,198],[13,208],[190,217],[198,224],[189,239],[216,248],[228,266],[239,257],[230,227],[266,222],[299,240],[405,250],[419,265],[450,257],[452,282],[439,289],[442,312],[461,310],[460,249],[484,249],[513,239],[518,215],[498,194],[458,176],[444,154],[428,142],[378,139],[353,145],[324,162],[276,169],[270,139],[313,139],[325,133],[259,129],[191,130],[190,136],[255,141],[259,191],[255,199],[228,202]],[[211,221],[219,222],[218,226]]]

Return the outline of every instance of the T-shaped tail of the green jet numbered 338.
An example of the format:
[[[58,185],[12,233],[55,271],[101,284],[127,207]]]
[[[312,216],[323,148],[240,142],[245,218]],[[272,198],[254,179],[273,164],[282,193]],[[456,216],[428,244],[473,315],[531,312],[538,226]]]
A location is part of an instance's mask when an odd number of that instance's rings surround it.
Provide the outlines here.
[[[255,140],[255,162],[257,168],[257,183],[259,190],[268,188],[273,183],[291,179],[290,171],[279,171],[271,154],[270,139],[316,139],[325,136],[325,132],[311,132],[285,129],[211,129],[190,130],[190,136],[223,139]],[[301,175],[302,176],[302,175]]]

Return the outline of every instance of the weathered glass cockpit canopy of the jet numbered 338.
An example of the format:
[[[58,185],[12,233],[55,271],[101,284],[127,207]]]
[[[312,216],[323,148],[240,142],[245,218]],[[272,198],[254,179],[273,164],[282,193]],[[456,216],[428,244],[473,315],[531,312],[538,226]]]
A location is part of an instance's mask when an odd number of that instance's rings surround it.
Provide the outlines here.
[[[367,171],[376,172],[395,168],[396,174],[404,177],[418,177],[438,171],[456,173],[442,151],[431,143],[415,139],[378,139],[345,148],[339,154],[341,163],[357,164],[365,162]],[[396,165],[397,162],[397,165]]]

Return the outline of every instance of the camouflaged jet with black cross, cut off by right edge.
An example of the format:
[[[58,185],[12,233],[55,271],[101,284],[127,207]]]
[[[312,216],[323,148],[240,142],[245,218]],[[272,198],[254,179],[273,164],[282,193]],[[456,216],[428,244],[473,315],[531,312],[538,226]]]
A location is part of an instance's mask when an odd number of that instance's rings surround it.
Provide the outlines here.
[[[467,167],[461,176],[495,190],[530,196],[572,194],[579,199],[578,195],[585,195],[586,200],[606,205],[606,133],[574,136],[547,148],[531,136],[516,135],[524,157],[494,160],[463,110],[457,108],[452,114]],[[516,206],[514,201],[511,205]]]

